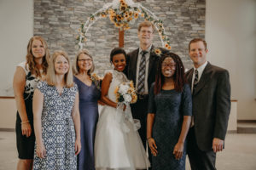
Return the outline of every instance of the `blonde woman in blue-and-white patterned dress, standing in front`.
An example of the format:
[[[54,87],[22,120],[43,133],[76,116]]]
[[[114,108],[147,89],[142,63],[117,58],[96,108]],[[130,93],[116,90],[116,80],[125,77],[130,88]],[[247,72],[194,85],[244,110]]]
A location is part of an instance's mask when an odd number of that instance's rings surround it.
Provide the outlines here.
[[[36,150],[33,169],[77,169],[81,149],[79,91],[67,54],[56,51],[46,81],[33,99]]]

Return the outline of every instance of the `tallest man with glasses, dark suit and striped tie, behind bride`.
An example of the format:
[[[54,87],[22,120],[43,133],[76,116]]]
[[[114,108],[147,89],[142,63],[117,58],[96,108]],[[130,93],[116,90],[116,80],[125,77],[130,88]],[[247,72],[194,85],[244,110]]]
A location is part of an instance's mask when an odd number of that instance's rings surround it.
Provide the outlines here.
[[[152,45],[154,37],[154,25],[149,21],[143,21],[138,26],[137,37],[140,47],[128,54],[127,77],[134,82],[137,89],[137,103],[131,105],[131,113],[134,119],[141,122],[138,130],[143,145],[146,145],[147,115],[148,115],[148,91],[155,80],[155,72],[160,56],[154,53]],[[162,53],[166,49],[161,48]]]

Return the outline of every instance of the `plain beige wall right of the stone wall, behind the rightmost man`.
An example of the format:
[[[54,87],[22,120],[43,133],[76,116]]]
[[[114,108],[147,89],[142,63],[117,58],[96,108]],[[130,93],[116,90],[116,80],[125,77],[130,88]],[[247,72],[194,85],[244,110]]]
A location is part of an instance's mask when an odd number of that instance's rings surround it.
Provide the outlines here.
[[[207,0],[208,60],[230,71],[237,118],[256,120],[256,1]]]

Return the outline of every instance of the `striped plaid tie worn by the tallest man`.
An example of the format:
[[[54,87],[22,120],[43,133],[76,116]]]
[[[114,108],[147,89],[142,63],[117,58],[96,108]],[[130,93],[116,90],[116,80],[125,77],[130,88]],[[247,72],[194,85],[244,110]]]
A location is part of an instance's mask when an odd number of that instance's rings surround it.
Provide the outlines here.
[[[146,74],[146,56],[148,51],[142,51],[142,58],[139,67],[139,75],[138,75],[138,83],[137,83],[137,93],[143,94],[145,91],[144,82],[145,82],[145,74]]]

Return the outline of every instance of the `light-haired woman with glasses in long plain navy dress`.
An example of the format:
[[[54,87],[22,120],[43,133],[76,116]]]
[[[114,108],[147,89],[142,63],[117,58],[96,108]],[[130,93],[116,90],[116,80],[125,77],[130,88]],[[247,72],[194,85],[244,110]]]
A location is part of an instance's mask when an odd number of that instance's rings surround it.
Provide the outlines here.
[[[95,169],[94,163],[94,141],[96,123],[98,122],[98,100],[101,91],[98,82],[92,81],[91,73],[94,70],[91,55],[82,50],[74,59],[73,81],[79,87],[79,112],[81,122],[81,144],[82,150],[78,156],[78,169]]]

